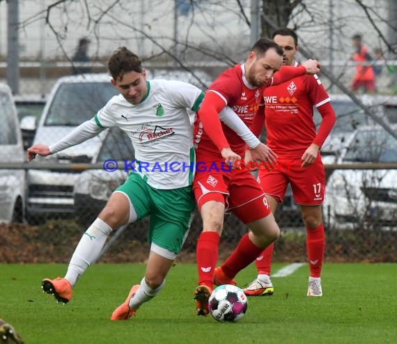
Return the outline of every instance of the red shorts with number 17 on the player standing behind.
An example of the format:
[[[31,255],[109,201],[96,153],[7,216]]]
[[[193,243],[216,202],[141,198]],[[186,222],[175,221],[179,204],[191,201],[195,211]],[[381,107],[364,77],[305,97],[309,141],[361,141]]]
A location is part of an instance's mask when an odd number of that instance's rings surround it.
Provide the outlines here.
[[[301,205],[322,204],[325,197],[325,169],[320,154],[313,164],[301,167],[302,160],[277,159],[279,163],[270,171],[260,169],[258,182],[265,194],[279,203],[284,201],[288,183],[293,189],[295,202]]]

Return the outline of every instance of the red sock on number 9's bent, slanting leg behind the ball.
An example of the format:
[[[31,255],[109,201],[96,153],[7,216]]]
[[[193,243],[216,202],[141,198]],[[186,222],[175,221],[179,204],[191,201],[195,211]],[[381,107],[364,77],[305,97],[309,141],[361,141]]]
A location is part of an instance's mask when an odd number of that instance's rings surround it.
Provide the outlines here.
[[[251,264],[262,251],[263,248],[257,247],[249,240],[247,233],[241,238],[231,256],[221,265],[222,271],[226,276],[233,279],[238,272]]]

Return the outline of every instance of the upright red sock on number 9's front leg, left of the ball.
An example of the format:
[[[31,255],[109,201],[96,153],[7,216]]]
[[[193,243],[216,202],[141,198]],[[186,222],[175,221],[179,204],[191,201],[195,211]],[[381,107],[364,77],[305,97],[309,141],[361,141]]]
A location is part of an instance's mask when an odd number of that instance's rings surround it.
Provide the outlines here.
[[[219,234],[203,232],[197,240],[198,286],[214,288],[214,270],[218,260]]]

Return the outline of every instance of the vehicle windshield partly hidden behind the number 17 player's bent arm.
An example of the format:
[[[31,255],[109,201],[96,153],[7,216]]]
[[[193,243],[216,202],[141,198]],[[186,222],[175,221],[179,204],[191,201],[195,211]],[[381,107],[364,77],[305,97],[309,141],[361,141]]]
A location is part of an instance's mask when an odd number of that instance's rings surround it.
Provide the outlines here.
[[[332,101],[332,107],[336,114],[336,123],[333,132],[352,132],[359,127],[359,125],[368,124],[368,116],[364,111],[354,102],[350,101]],[[321,116],[318,110],[314,109],[314,123],[316,128],[320,126]]]

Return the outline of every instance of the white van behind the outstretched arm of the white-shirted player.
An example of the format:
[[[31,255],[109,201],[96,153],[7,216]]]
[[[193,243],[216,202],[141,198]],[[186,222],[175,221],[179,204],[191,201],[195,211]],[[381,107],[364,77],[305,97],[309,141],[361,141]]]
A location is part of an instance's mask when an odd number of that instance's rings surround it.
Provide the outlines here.
[[[86,74],[62,77],[49,94],[33,143],[51,145],[84,121],[92,118],[118,92],[109,75]],[[27,173],[26,217],[31,222],[75,212],[73,190],[79,171],[34,169],[41,162],[91,162],[104,133],[49,157],[36,157]]]

